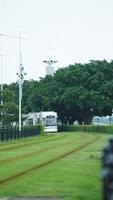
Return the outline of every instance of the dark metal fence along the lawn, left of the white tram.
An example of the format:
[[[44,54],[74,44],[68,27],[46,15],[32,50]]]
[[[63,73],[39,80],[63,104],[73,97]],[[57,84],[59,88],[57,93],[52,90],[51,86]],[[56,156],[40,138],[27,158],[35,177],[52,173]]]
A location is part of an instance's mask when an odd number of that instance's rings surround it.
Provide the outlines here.
[[[15,140],[39,134],[40,130],[38,127],[22,127],[21,131],[19,131],[18,127],[0,128],[0,141]]]

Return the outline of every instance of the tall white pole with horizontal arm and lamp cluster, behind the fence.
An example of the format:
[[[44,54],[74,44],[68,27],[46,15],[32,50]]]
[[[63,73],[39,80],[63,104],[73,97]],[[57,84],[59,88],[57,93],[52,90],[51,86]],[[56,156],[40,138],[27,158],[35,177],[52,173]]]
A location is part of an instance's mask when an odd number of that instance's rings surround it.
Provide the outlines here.
[[[24,67],[22,66],[21,40],[25,39],[25,38],[21,37],[20,32],[19,32],[19,36],[5,35],[5,34],[1,34],[1,33],[0,33],[0,36],[14,38],[14,39],[19,40],[19,72],[17,73],[17,75],[19,77],[19,81],[18,81],[18,84],[19,84],[19,131],[21,132],[22,84],[24,81],[24,75],[26,75],[24,73]]]

